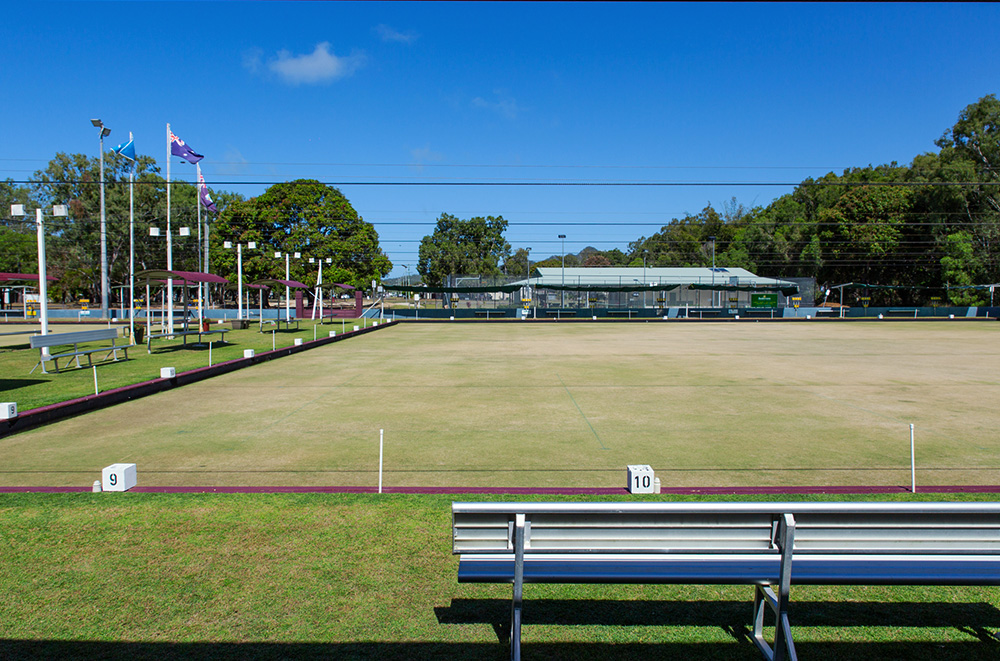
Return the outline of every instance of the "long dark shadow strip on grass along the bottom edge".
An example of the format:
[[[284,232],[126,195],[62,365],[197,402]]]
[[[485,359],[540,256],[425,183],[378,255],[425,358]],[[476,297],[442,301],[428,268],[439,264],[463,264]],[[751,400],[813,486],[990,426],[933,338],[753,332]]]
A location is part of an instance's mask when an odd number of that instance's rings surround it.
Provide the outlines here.
[[[981,642],[960,643],[796,643],[801,659],[994,659],[997,647]],[[760,653],[751,643],[531,643],[521,647],[531,659],[567,661],[635,661],[685,659],[695,661],[756,661]],[[145,661],[312,661],[323,659],[422,659],[497,661],[509,658],[506,645],[471,642],[359,642],[359,643],[152,643],[58,640],[0,640],[0,657],[11,661],[77,661],[128,659]]]

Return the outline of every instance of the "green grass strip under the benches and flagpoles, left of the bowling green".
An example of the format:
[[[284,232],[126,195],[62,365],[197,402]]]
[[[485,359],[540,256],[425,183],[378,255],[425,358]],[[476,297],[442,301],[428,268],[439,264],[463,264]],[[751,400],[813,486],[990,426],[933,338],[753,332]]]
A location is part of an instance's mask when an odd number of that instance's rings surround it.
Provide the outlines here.
[[[264,332],[260,332],[259,327],[251,325],[245,330],[227,330],[225,343],[220,342],[219,335],[206,336],[213,338],[211,347],[212,364],[218,364],[227,360],[234,360],[243,357],[244,349],[253,349],[257,353],[270,351],[272,348],[288,347],[295,344],[295,338],[302,338],[304,341],[311,341],[329,337],[330,331],[336,331],[339,335],[344,330],[350,331],[355,325],[370,325],[370,320],[337,320],[318,324],[311,320],[300,322],[299,330],[269,330],[264,326]],[[315,327],[315,330],[314,330]],[[213,329],[228,329],[229,325],[221,326],[214,324]],[[271,325],[270,329],[274,326]],[[69,333],[79,328],[71,326],[60,326],[54,324],[50,327],[50,333]],[[156,328],[154,327],[154,331]],[[158,332],[158,331],[156,331]],[[52,363],[46,363],[46,369],[51,373],[43,374],[41,368],[31,370],[38,363],[38,350],[28,346],[27,336],[16,336],[20,338],[18,342],[8,346],[0,346],[0,397],[5,402],[17,402],[19,411],[47,406],[64,402],[77,397],[85,397],[94,394],[94,373],[87,366],[86,357],[81,357],[80,362],[83,369],[77,369],[76,363],[72,360],[62,359],[59,361],[60,372],[51,372]],[[9,338],[8,338],[9,339]],[[187,345],[182,343],[180,337],[176,339],[158,338],[152,342],[152,353],[146,352],[146,345],[132,347],[128,350],[128,360],[117,362],[111,359],[104,361],[104,353],[92,354],[92,358],[97,367],[97,384],[101,392],[128,386],[160,376],[161,367],[173,367],[178,373],[187,370],[206,367],[209,364],[209,345],[195,345],[197,337],[188,337]],[[120,343],[125,343],[122,338]],[[81,344],[81,349],[97,348],[108,345],[108,342],[92,342]],[[51,353],[61,353],[71,350],[53,349]],[[119,356],[122,354],[119,353]],[[66,369],[64,369],[64,367]]]

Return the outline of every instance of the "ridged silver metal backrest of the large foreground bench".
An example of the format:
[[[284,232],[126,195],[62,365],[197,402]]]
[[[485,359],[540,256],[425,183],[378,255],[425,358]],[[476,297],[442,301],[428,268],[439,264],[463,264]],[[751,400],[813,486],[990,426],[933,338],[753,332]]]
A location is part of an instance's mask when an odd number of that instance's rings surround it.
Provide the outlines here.
[[[1000,555],[1000,503],[453,503],[453,552]]]

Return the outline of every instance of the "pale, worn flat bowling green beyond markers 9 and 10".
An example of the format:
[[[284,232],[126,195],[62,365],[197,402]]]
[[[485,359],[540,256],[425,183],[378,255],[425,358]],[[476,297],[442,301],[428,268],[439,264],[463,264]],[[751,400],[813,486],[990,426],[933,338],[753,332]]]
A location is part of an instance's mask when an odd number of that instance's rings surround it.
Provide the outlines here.
[[[998,333],[400,324],[5,438],[0,484],[374,486],[382,429],[387,486],[908,486],[911,423],[918,486],[998,484]]]

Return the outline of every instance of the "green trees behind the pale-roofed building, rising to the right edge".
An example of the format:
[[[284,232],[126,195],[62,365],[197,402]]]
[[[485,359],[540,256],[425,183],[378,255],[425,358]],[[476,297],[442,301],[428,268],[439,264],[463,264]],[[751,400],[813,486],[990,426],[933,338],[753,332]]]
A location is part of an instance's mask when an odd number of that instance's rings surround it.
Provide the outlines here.
[[[967,106],[935,141],[936,152],[896,163],[806,179],[767,206],[735,198],[672,219],[625,251],[586,248],[532,261],[535,266],[741,267],[770,277],[814,277],[821,289],[877,285],[872,304],[987,303],[971,285],[1000,283],[1000,102]],[[518,276],[530,254],[511,252],[506,221],[442,215],[420,246],[419,272],[431,284],[448,273]],[[488,240],[477,244],[477,237]],[[476,245],[490,250],[470,252]],[[848,294],[851,296],[852,294]],[[846,299],[845,299],[846,300]]]

